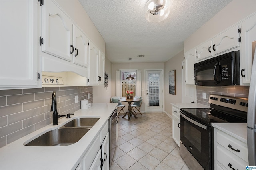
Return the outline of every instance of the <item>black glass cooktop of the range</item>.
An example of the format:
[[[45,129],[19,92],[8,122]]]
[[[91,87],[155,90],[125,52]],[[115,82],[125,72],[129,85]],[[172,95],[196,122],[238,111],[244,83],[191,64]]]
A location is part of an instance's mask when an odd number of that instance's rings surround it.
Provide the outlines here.
[[[211,125],[211,123],[246,123],[246,120],[226,113],[213,111],[208,108],[181,108],[183,114],[195,119],[197,122]]]

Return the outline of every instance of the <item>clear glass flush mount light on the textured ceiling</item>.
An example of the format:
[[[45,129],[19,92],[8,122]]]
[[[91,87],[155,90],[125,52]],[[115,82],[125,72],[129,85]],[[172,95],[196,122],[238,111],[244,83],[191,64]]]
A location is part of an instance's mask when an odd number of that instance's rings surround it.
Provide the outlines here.
[[[170,10],[166,5],[167,0],[149,0],[146,3],[146,19],[149,22],[160,22],[168,17]]]

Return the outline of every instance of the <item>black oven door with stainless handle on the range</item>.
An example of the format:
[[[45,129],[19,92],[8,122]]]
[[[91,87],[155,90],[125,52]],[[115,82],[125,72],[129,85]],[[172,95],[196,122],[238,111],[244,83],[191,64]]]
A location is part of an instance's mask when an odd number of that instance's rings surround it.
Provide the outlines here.
[[[212,169],[212,127],[180,111],[180,141],[206,170]]]

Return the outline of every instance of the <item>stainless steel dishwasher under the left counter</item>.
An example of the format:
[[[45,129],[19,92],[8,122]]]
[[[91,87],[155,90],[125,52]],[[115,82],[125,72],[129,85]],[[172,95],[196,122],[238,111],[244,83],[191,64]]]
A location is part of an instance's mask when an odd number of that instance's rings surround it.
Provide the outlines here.
[[[108,126],[109,126],[109,166],[111,166],[112,162],[114,161],[114,154],[116,150],[116,140],[117,140],[117,109],[112,113],[110,118],[108,119]]]

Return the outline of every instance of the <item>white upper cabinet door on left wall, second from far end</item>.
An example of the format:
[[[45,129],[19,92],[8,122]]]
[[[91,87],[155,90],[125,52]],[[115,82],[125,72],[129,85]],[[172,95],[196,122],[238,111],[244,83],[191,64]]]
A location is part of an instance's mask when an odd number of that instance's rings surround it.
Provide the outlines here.
[[[89,82],[88,85],[98,85],[99,49],[90,42],[89,45]]]

